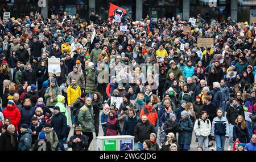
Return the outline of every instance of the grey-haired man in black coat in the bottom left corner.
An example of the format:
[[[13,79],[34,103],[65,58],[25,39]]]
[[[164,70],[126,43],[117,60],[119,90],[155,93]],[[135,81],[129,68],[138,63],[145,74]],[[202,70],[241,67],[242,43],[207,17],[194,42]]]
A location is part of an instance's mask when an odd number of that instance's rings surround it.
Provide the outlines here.
[[[15,126],[10,124],[7,131],[0,136],[0,151],[17,151],[18,135],[15,133]]]

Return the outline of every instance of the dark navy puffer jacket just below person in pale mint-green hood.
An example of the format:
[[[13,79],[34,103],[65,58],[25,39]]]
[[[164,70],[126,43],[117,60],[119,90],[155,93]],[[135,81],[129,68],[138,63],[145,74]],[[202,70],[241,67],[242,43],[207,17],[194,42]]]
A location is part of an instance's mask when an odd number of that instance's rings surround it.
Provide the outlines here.
[[[57,134],[57,137],[64,138],[66,133],[67,117],[62,113],[55,114],[52,117],[51,124]]]

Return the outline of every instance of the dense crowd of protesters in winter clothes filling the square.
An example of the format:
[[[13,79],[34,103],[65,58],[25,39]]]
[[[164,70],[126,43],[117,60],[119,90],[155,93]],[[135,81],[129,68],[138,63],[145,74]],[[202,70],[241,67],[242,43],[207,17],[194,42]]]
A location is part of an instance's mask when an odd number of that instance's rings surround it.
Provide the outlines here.
[[[0,151],[256,151],[256,24],[118,11],[0,20]]]

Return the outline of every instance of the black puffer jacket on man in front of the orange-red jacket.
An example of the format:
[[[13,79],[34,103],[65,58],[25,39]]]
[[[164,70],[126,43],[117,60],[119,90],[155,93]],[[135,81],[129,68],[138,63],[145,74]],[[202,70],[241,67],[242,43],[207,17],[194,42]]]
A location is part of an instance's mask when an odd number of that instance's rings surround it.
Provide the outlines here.
[[[146,139],[150,139],[150,134],[155,133],[155,127],[150,121],[145,123],[139,120],[138,124],[134,129],[135,142],[144,142]]]

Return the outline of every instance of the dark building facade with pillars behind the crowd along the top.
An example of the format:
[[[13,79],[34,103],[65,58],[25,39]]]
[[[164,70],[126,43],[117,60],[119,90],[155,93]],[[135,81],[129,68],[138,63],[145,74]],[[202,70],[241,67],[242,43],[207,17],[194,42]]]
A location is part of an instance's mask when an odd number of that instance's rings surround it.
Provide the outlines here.
[[[46,6],[39,7],[39,1],[45,1]],[[31,11],[41,12],[44,18],[65,11],[68,15],[79,14],[82,19],[88,20],[90,11],[96,11],[96,14],[107,19],[110,3],[125,8],[128,15],[136,20],[145,18],[146,15],[157,19],[172,18],[177,14],[183,19],[200,14],[206,20],[215,18],[219,21],[231,16],[236,22],[256,18],[255,0],[0,0],[0,16],[2,17],[5,8],[15,18],[28,15]]]

